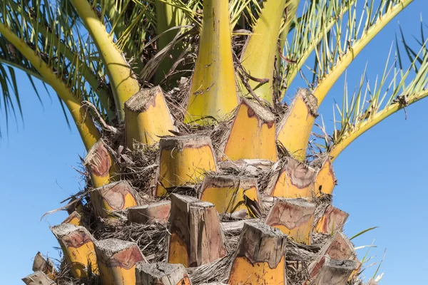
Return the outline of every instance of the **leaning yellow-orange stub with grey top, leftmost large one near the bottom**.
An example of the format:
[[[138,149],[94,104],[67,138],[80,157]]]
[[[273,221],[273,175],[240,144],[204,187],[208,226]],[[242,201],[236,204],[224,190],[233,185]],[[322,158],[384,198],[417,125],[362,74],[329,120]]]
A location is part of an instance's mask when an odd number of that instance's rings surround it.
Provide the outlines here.
[[[71,266],[71,275],[75,278],[86,278],[88,270],[98,274],[96,254],[93,243],[95,239],[84,227],[74,224],[58,224],[51,227],[64,257]],[[89,268],[90,267],[90,268]]]

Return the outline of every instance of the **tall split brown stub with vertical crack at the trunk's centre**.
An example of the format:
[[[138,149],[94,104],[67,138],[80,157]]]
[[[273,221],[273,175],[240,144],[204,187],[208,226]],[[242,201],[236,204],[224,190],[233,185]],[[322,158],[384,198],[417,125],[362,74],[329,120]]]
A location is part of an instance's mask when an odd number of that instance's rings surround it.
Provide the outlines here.
[[[223,231],[214,205],[184,195],[170,198],[168,263],[195,267],[225,257]]]

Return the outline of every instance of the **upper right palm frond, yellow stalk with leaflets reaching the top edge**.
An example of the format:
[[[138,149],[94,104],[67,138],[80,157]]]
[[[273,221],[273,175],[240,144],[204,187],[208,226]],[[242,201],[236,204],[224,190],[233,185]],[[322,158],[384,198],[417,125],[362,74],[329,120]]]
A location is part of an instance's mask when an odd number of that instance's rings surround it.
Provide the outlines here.
[[[305,18],[296,24],[287,47],[287,57],[295,61],[285,67],[287,86],[312,52],[315,53],[315,61],[310,64],[313,66],[310,88],[315,89],[320,104],[362,48],[411,2],[320,0],[307,4]]]

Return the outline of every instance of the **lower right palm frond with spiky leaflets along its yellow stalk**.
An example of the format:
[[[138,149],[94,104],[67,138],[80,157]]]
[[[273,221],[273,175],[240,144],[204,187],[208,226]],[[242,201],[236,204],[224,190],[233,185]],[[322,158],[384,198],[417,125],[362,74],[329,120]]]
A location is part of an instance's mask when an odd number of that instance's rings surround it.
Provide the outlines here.
[[[350,96],[345,82],[342,107],[335,106],[335,131],[332,145],[328,147],[333,159],[384,118],[428,96],[428,48],[423,30],[419,50],[410,48],[404,36],[402,43],[409,60],[408,68],[403,67],[405,58],[396,43],[394,61],[390,51],[384,72],[374,83],[368,81],[364,73]]]

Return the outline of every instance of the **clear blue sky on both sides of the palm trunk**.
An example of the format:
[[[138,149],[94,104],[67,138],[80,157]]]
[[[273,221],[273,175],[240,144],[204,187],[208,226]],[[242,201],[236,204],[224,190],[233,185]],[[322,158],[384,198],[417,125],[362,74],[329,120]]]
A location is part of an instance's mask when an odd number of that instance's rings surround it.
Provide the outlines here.
[[[359,81],[367,61],[368,76],[382,73],[384,61],[398,31],[400,21],[405,33],[419,35],[419,16],[428,11],[425,0],[415,0],[394,19],[363,51],[358,62],[348,69],[350,90]],[[426,15],[428,17],[428,15]],[[342,100],[342,81],[332,89],[320,113],[332,132],[333,99]],[[22,284],[31,273],[32,258],[37,251],[58,257],[58,244],[49,225],[63,221],[59,212],[40,221],[44,212],[61,207],[59,202],[83,187],[73,166],[78,155],[85,155],[76,128],[68,130],[56,95],[51,99],[39,84],[42,107],[26,77],[19,73],[23,100],[24,126],[11,123],[6,135],[4,115],[0,141],[2,217],[0,234],[0,276],[2,284]],[[382,284],[422,284],[428,270],[427,236],[428,200],[426,185],[428,140],[428,99],[407,108],[408,118],[399,112],[359,138],[335,162],[339,185],[333,204],[350,214],[345,233],[352,236],[368,227],[379,227],[354,240],[356,246],[374,244],[374,261],[387,254],[381,272]],[[17,130],[16,128],[19,128]],[[365,249],[358,252],[362,257]],[[367,270],[371,276],[374,267]],[[371,273],[371,274],[370,274]]]

